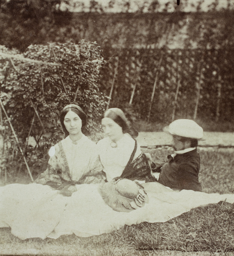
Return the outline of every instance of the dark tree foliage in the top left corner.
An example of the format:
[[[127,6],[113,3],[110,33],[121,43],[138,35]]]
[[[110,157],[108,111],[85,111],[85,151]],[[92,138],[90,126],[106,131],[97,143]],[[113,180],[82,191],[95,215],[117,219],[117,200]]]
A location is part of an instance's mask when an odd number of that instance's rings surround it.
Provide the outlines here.
[[[67,10],[61,11],[63,4],[69,5],[69,0],[1,0],[0,44],[24,50],[49,41],[56,15],[71,18]]]

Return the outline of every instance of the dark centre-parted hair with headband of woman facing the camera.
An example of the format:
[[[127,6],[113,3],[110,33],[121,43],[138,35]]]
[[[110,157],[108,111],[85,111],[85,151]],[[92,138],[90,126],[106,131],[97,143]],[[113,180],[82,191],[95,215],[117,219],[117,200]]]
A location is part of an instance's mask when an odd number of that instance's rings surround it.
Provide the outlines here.
[[[87,122],[87,117],[86,117],[86,114],[84,113],[84,111],[82,110],[81,107],[79,107],[78,105],[75,105],[75,104],[69,104],[67,105],[66,107],[63,108],[63,110],[61,111],[60,113],[60,122],[61,122],[61,125],[62,125],[62,128],[64,130],[64,133],[65,133],[65,137],[67,137],[69,135],[69,132],[66,130],[65,128],[65,125],[64,125],[64,117],[66,116],[66,114],[69,112],[69,111],[72,111],[74,113],[76,113],[81,121],[82,121],[82,128],[86,125],[86,122]]]

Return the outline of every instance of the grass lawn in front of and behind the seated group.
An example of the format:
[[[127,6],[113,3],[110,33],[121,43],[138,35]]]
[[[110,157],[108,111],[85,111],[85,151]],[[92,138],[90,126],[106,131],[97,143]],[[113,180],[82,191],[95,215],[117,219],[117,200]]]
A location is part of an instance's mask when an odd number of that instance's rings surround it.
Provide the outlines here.
[[[162,159],[170,149],[145,149],[153,159]],[[234,193],[234,149],[199,149],[200,182],[204,192]],[[233,256],[234,204],[220,202],[198,207],[165,223],[147,222],[109,234],[54,239],[14,237],[0,229],[0,255],[77,256]]]

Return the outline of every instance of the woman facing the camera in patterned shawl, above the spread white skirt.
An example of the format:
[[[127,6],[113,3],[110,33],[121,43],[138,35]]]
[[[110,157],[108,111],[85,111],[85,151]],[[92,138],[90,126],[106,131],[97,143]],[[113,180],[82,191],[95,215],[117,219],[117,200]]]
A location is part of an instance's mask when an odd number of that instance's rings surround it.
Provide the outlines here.
[[[35,182],[63,189],[63,194],[69,194],[68,188],[74,191],[75,184],[100,183],[105,175],[97,145],[81,131],[86,114],[78,105],[70,104],[61,111],[60,122],[65,139],[50,148],[48,167]]]

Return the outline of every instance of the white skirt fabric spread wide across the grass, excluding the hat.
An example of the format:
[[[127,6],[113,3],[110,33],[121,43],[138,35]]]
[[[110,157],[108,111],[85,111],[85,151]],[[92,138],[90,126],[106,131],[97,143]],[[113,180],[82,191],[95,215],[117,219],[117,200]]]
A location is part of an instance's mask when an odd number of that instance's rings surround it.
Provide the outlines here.
[[[71,197],[40,184],[10,184],[0,187],[0,227],[11,227],[20,239],[57,239],[75,233],[88,237],[120,227],[147,222],[165,222],[202,205],[226,201],[234,195],[207,194],[182,190],[174,192],[159,183],[147,183],[149,203],[131,212],[116,212],[98,193],[99,184],[76,185]]]

